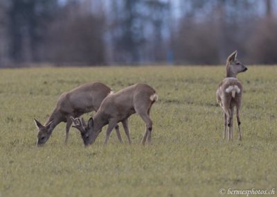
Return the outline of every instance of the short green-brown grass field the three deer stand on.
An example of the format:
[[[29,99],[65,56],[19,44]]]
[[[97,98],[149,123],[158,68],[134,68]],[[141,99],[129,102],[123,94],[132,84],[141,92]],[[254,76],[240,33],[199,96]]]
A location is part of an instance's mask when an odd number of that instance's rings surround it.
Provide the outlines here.
[[[242,142],[236,124],[233,142],[222,139],[215,90],[224,76],[223,66],[1,69],[0,196],[221,196],[221,188],[276,188],[277,67],[238,76]],[[152,145],[141,146],[145,125],[134,115],[131,146],[121,125],[123,144],[113,132],[104,146],[103,129],[84,148],[71,128],[65,146],[65,123],[35,146],[33,118],[46,121],[62,92],[89,81],[115,91],[134,83],[157,90]]]

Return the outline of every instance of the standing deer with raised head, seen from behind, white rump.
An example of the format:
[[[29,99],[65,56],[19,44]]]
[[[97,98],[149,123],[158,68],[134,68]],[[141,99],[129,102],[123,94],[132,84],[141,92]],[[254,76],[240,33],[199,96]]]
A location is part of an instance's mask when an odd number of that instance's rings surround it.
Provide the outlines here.
[[[224,112],[224,132],[223,139],[226,137],[226,126],[229,127],[228,140],[233,139],[233,112],[237,108],[237,122],[239,139],[242,140],[240,130],[240,107],[242,104],[242,83],[236,78],[240,72],[247,71],[247,67],[237,60],[237,51],[234,51],[226,61],[226,78],[222,80],[217,88],[217,102]]]

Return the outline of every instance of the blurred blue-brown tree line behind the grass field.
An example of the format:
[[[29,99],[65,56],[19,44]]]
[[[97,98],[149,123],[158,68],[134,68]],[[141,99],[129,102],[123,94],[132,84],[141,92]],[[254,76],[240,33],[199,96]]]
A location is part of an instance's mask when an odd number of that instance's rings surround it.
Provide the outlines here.
[[[0,0],[0,67],[276,64],[272,0]]]

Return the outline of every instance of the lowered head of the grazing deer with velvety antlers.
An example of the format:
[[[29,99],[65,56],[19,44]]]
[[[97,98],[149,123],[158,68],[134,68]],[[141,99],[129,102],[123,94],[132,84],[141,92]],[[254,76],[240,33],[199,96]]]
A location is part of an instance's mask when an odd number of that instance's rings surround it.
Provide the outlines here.
[[[100,131],[95,131],[93,126],[93,119],[90,118],[88,123],[84,121],[84,119],[76,118],[74,119],[71,117],[73,121],[73,128],[77,128],[80,131],[82,141],[84,142],[84,146],[88,146],[92,144],[95,140]]]

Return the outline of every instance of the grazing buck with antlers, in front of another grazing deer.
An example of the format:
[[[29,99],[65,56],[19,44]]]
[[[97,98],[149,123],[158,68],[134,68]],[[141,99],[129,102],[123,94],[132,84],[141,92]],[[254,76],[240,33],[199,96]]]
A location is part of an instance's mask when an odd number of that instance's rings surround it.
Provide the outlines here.
[[[90,118],[87,125],[84,119],[73,119],[74,128],[80,130],[84,145],[93,144],[96,137],[101,132],[102,127],[108,124],[105,143],[109,140],[111,130],[118,122],[123,124],[128,142],[131,144],[129,137],[128,118],[137,113],[146,124],[146,130],[141,144],[145,144],[146,138],[151,143],[152,121],[150,119],[150,109],[152,104],[157,101],[156,91],[146,84],[136,84],[121,89],[115,94],[110,94],[104,99],[99,110],[93,118]]]

